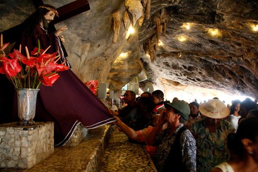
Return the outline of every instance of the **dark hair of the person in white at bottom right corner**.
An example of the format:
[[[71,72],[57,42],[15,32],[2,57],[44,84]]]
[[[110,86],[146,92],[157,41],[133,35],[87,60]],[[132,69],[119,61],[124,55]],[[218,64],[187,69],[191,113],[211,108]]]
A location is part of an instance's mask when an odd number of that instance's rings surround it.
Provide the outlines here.
[[[228,136],[228,146],[229,149],[239,156],[239,158],[244,158],[245,148],[241,142],[242,139],[246,138],[252,142],[256,142],[256,137],[258,136],[258,117],[250,117],[243,119],[237,128],[236,134],[229,134]]]

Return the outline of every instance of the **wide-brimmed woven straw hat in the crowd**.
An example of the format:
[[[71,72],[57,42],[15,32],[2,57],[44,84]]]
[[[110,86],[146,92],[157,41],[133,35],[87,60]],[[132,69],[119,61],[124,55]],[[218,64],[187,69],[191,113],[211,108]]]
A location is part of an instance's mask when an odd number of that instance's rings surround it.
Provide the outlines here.
[[[202,115],[214,119],[225,118],[229,115],[229,109],[225,104],[218,99],[211,99],[199,106],[199,111]]]

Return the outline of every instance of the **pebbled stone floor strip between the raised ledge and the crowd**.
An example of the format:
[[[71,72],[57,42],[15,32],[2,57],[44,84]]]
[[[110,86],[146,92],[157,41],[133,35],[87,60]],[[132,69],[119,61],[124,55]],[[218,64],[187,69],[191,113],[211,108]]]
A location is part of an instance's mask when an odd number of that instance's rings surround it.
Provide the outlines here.
[[[131,143],[125,134],[112,133],[101,161],[100,172],[157,172],[145,147]]]

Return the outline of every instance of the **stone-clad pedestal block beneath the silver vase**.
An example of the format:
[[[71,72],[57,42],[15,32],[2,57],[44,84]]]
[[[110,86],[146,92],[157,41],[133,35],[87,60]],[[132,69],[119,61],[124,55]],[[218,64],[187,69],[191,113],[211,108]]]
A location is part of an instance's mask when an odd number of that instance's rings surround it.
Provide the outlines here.
[[[54,123],[0,125],[0,167],[29,169],[54,153]]]

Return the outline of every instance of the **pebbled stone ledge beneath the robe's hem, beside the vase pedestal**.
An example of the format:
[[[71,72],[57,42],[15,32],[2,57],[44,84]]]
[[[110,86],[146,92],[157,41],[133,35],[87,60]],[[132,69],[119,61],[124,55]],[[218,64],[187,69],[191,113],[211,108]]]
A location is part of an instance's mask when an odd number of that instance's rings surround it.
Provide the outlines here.
[[[75,147],[55,147],[55,152],[42,163],[22,172],[99,172],[104,149],[113,129],[104,125],[88,130],[86,138]],[[0,169],[1,172],[21,172]]]

